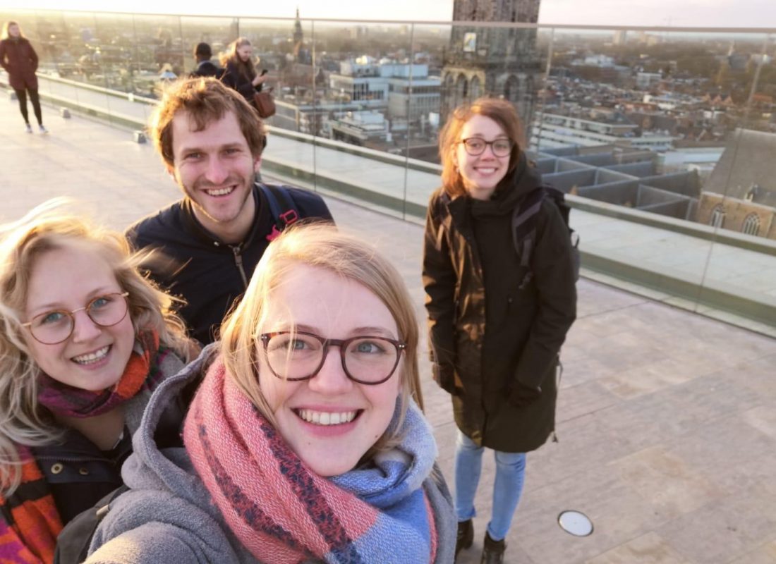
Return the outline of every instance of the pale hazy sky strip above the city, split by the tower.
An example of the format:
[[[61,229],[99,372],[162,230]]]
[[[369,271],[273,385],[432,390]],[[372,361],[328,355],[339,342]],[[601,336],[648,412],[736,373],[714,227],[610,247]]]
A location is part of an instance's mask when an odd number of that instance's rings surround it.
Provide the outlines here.
[[[210,3],[192,10],[191,0],[11,0],[22,8],[126,10],[303,18],[440,20],[452,18],[452,0],[293,0]],[[199,2],[196,2],[199,5]],[[109,7],[108,7],[109,6]],[[223,9],[226,8],[226,11]],[[220,11],[221,10],[221,11]],[[776,0],[542,0],[539,22],[605,26],[776,27]]]

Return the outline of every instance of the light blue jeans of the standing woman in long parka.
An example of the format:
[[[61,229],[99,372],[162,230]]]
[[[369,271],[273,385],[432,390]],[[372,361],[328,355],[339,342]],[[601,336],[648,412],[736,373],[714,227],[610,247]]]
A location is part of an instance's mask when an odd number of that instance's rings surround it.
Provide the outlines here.
[[[476,514],[474,495],[480,483],[484,447],[458,431],[456,438],[456,516],[468,521]],[[494,451],[496,480],[493,485],[493,510],[487,532],[494,541],[507,536],[514,510],[520,503],[525,481],[525,452]]]

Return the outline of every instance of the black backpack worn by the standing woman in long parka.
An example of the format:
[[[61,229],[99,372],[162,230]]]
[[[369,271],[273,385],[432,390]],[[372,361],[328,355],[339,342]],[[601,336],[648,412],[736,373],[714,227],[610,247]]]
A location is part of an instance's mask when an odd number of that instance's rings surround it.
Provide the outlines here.
[[[563,223],[569,230],[571,239],[571,258],[573,261],[574,281],[580,278],[580,238],[569,225],[570,207],[566,203],[566,197],[559,189],[549,185],[540,185],[525,195],[520,205],[512,213],[512,240],[514,250],[517,251],[520,258],[520,265],[528,268],[528,272],[520,282],[520,289],[524,289],[528,282],[533,278],[531,271],[531,256],[536,242],[536,214],[542,207],[542,202],[549,199],[553,202],[563,217]]]

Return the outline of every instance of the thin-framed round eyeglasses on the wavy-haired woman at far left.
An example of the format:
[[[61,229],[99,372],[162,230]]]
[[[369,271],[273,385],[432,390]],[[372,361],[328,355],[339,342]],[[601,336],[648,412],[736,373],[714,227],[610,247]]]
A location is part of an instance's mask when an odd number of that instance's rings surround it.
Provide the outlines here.
[[[29,332],[33,338],[43,344],[58,344],[67,341],[73,334],[75,327],[74,315],[79,311],[85,311],[89,319],[100,327],[111,327],[116,325],[124,317],[129,305],[126,302],[126,296],[130,292],[114,292],[103,294],[93,298],[83,307],[77,310],[52,310],[40,313],[22,327],[29,327]]]

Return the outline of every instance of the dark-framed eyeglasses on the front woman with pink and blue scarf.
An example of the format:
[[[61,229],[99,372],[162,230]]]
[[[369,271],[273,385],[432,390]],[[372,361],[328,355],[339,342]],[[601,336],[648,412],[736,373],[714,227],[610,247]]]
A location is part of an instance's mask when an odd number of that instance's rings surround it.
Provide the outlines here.
[[[329,347],[340,348],[342,369],[354,382],[375,386],[396,372],[407,344],[386,337],[359,336],[327,339],[304,331],[275,331],[260,336],[272,374],[298,382],[312,378],[323,367]]]

